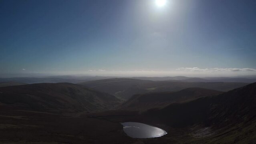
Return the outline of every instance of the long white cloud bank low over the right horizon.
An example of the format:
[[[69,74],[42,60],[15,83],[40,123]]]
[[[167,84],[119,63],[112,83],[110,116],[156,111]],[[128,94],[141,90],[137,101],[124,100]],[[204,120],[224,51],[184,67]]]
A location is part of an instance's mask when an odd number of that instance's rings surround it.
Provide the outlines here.
[[[190,71],[190,72],[248,72],[256,71],[253,68],[177,68],[176,70]]]

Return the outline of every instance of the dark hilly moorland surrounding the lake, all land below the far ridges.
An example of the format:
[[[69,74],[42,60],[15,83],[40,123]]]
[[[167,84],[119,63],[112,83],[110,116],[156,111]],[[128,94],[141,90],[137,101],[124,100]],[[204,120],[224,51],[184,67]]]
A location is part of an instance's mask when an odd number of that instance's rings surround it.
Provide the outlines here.
[[[0,142],[254,144],[255,103],[256,83],[111,78],[4,86]],[[157,126],[167,134],[130,138],[120,122]]]

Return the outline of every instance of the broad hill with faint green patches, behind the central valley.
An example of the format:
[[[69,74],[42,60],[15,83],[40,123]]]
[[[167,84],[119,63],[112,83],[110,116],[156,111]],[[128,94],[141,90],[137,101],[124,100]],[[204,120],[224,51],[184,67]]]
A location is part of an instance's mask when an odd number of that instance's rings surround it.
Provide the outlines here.
[[[206,88],[217,91],[228,91],[247,85],[247,83],[224,83],[224,82],[172,82],[137,80],[131,78],[110,78],[79,83],[83,86],[94,88],[101,92],[107,92],[118,98],[128,100],[134,94],[149,92],[171,92],[185,88]]]

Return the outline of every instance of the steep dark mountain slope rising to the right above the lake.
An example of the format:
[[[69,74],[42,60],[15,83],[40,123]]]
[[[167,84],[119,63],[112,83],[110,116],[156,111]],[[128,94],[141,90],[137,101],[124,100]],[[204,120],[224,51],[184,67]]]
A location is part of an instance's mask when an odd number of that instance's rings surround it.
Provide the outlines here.
[[[193,124],[226,126],[256,118],[255,103],[256,83],[253,83],[215,96],[151,109],[145,112],[145,115],[156,117],[162,123],[172,127]]]

